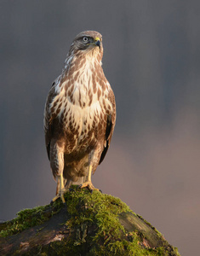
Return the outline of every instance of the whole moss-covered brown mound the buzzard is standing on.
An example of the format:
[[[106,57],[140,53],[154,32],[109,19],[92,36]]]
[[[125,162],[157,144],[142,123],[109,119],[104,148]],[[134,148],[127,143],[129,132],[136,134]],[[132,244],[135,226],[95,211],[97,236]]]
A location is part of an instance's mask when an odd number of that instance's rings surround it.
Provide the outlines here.
[[[116,197],[72,186],[65,199],[0,224],[0,254],[180,255]]]

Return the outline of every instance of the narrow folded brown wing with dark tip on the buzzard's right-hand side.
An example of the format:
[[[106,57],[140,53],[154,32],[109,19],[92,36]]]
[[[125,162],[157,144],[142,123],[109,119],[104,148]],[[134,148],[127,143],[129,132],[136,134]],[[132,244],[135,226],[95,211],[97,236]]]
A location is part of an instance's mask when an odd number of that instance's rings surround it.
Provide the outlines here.
[[[105,145],[106,147],[102,151],[100,155],[100,163],[104,160],[107,150],[111,143],[111,137],[115,128],[115,122],[116,122],[116,103],[115,103],[115,96],[112,90],[110,90],[108,98],[112,105],[112,113],[107,116],[107,123],[106,123],[106,135],[105,135]]]

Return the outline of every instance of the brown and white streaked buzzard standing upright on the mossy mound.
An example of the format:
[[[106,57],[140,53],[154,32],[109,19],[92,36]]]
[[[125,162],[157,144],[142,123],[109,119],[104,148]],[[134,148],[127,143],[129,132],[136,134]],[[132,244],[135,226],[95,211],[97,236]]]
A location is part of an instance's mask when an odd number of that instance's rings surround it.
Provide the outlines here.
[[[116,121],[115,96],[101,67],[102,36],[80,32],[65,67],[54,80],[44,108],[44,132],[56,196],[64,200],[71,183],[95,189],[91,174],[111,143]]]

